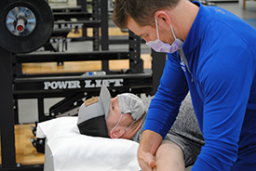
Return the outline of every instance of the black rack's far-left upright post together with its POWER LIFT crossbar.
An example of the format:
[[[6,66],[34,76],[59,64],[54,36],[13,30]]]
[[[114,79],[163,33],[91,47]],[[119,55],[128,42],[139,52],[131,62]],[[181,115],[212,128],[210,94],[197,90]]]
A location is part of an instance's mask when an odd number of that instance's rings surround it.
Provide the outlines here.
[[[42,164],[36,165],[21,165],[16,164],[15,156],[15,139],[14,139],[14,123],[15,123],[15,111],[17,112],[17,104],[14,99],[38,99],[38,112],[39,117],[44,116],[44,101],[45,98],[52,97],[66,97],[70,98],[75,94],[84,94],[88,92],[90,96],[96,96],[95,92],[100,91],[100,87],[86,88],[86,83],[89,85],[101,84],[102,80],[108,80],[110,82],[111,90],[115,90],[116,93],[130,91],[135,94],[147,93],[155,94],[156,87],[159,82],[160,75],[163,67],[159,65],[159,61],[162,64],[165,61],[165,55],[155,54],[156,59],[153,59],[153,67],[155,71],[152,74],[148,73],[131,73],[131,74],[109,74],[105,76],[38,76],[38,77],[17,77],[15,74],[15,61],[17,57],[10,52],[7,52],[0,47],[0,127],[1,127],[1,149],[2,149],[2,168],[0,170],[34,170],[39,171],[43,169]],[[158,56],[158,57],[157,57]],[[137,58],[135,58],[137,59]],[[136,64],[136,60],[131,59],[131,64]],[[157,71],[157,72],[156,72]],[[112,82],[112,80],[114,80]],[[116,87],[115,80],[118,84],[122,84],[122,87]],[[122,80],[122,81],[120,81]],[[76,81],[79,82],[80,88],[66,88],[66,89],[52,89],[44,88],[45,83],[52,82],[65,82]],[[93,94],[94,93],[94,94]],[[80,95],[83,96],[83,95]],[[16,107],[16,108],[14,108]],[[17,117],[16,117],[17,119]]]

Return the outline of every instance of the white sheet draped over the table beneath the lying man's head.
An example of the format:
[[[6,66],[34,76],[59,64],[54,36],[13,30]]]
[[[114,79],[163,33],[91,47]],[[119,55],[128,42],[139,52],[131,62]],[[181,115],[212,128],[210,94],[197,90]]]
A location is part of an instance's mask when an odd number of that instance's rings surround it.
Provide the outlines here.
[[[139,171],[139,144],[128,139],[81,135],[77,117],[52,119],[37,126],[37,138],[47,138],[55,171]]]

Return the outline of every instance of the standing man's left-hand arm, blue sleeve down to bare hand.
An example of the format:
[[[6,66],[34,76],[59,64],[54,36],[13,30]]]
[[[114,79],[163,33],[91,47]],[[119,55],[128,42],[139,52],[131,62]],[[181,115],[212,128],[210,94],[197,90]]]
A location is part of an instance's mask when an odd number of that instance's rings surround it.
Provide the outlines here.
[[[161,84],[151,102],[141,135],[138,160],[143,171],[155,167],[155,151],[175,121],[187,91],[179,58],[168,54]]]

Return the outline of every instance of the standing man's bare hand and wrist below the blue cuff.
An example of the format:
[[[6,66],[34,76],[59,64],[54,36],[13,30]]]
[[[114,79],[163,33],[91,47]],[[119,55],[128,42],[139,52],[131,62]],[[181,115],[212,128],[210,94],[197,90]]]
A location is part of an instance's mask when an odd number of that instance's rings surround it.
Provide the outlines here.
[[[162,142],[162,137],[151,130],[145,130],[141,134],[141,142],[138,150],[138,161],[142,171],[152,171],[155,167],[155,151]]]

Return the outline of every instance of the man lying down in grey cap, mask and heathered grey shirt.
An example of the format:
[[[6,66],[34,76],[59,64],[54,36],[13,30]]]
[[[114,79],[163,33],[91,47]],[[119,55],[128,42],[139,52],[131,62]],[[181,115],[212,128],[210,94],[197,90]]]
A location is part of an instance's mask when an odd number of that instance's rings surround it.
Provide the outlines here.
[[[111,98],[106,85],[102,85],[99,97],[87,99],[81,105],[77,120],[79,131],[87,136],[127,138],[140,143],[151,99],[153,97],[140,99],[131,93]],[[185,170],[195,163],[203,145],[204,139],[188,94],[174,125],[155,152],[154,170]]]

